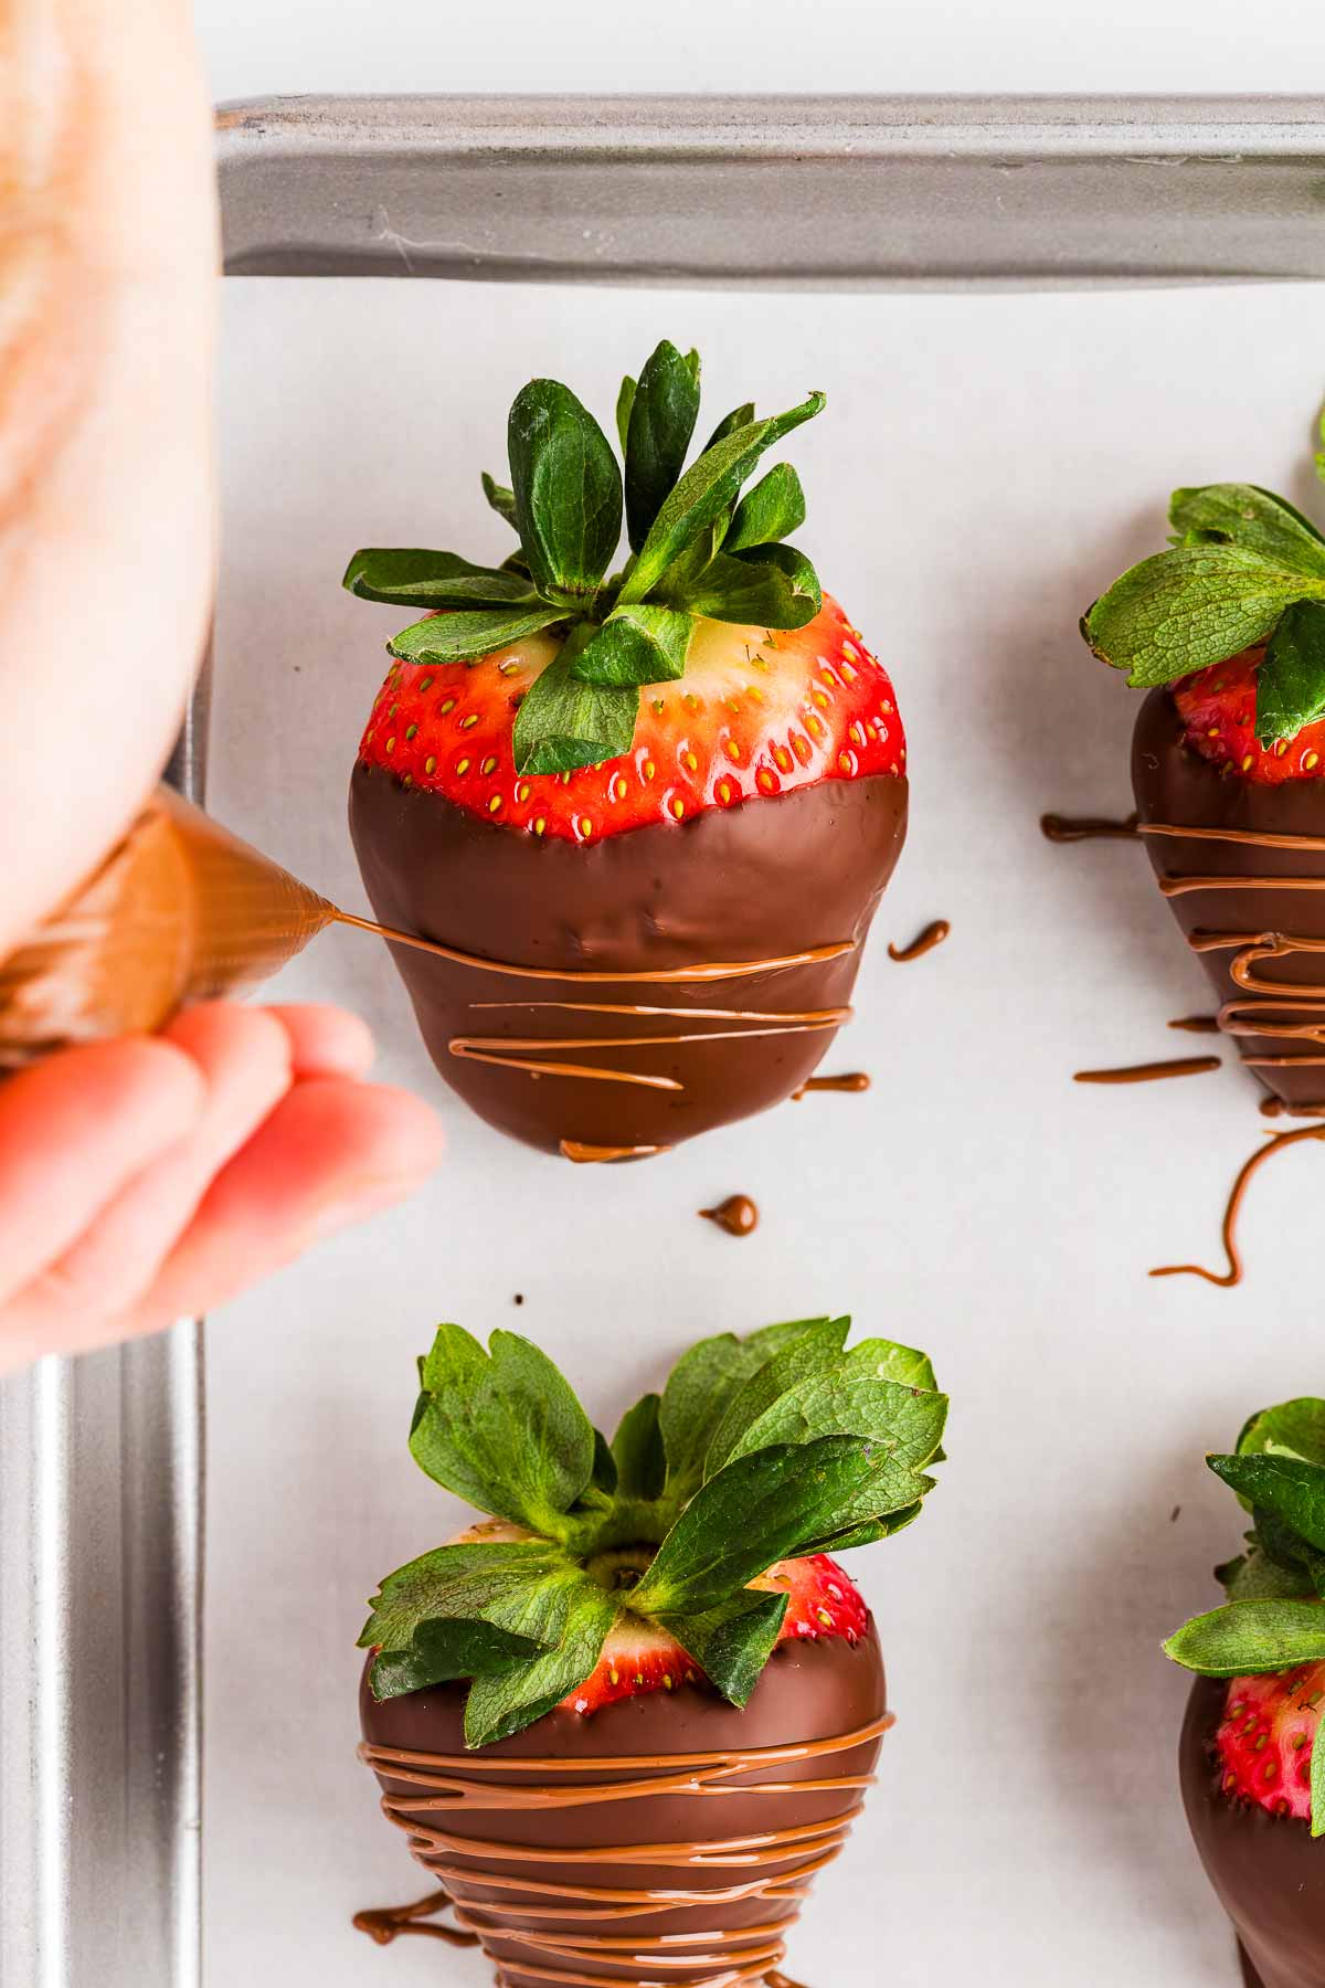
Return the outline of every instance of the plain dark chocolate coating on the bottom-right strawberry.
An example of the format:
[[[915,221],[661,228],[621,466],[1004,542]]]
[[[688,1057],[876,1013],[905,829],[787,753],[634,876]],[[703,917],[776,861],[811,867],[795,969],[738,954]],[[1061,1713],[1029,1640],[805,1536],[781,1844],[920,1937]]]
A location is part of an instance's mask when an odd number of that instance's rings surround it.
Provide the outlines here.
[[[1220,1905],[1238,1928],[1248,1988],[1325,1982],[1325,1837],[1305,1821],[1230,1801],[1214,1734],[1228,1684],[1198,1678],[1182,1722],[1182,1803]]]

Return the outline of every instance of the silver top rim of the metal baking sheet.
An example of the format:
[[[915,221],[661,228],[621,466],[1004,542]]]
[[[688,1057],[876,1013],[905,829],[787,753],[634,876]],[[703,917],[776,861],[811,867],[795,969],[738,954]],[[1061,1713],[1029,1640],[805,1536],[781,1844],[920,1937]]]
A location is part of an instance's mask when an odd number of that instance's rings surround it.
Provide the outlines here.
[[[278,97],[226,268],[520,282],[1325,276],[1319,97]]]

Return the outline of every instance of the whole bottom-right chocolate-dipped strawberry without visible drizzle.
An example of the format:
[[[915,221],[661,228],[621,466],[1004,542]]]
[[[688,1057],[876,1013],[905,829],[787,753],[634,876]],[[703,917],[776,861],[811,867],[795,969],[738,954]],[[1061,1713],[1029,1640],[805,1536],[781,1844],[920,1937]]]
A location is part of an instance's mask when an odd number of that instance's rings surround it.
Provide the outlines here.
[[[1182,1728],[1182,1797],[1250,1982],[1325,1980],[1325,1402],[1253,1415],[1206,1459],[1251,1513],[1246,1553],[1216,1569],[1228,1602],[1164,1648],[1198,1672]]]

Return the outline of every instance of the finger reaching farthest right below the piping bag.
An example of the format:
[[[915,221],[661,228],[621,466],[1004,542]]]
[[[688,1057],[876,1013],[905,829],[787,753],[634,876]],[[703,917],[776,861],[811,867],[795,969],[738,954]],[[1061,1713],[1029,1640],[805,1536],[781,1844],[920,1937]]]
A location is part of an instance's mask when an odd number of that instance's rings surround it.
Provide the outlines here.
[[[413,1193],[441,1153],[421,1099],[387,1085],[298,1083],[207,1191],[125,1330],[157,1330],[234,1296],[310,1242]]]

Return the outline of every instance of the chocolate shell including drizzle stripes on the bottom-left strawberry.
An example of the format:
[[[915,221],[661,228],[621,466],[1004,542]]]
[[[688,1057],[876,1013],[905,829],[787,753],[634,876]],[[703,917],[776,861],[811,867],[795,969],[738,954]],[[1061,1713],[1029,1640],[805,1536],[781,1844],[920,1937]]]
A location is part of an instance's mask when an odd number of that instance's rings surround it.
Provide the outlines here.
[[[465,1751],[463,1706],[366,1686],[360,1751],[501,1988],[775,1984],[892,1726],[872,1628],[783,1646],[745,1712],[683,1686]]]

